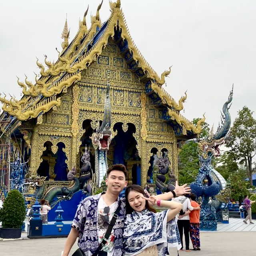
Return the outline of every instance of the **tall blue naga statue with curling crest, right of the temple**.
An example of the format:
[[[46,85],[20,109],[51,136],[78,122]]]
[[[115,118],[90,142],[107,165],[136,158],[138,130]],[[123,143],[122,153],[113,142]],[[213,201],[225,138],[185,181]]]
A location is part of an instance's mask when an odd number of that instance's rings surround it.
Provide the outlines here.
[[[219,146],[228,144],[230,138],[228,131],[231,125],[230,113],[228,112],[233,96],[233,87],[228,100],[223,105],[222,125],[218,126],[217,132],[207,140],[198,142],[198,155],[200,169],[196,181],[190,184],[192,192],[197,197],[202,198],[202,210],[200,213],[200,229],[216,230],[217,219],[220,219],[220,213],[227,207],[230,198],[230,186],[227,186],[226,180],[212,167],[212,156],[220,156]],[[230,104],[230,105],[229,105]],[[220,193],[220,194],[219,194]]]

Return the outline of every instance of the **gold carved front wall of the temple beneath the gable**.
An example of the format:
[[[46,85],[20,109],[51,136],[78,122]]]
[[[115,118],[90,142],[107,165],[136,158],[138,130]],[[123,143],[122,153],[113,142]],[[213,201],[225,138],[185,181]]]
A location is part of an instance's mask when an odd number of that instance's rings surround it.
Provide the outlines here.
[[[91,127],[95,129],[97,121],[103,119],[107,76],[110,76],[111,84],[111,127],[117,122],[123,123],[124,132],[128,129],[128,123],[136,127],[133,136],[141,158],[142,185],[146,183],[152,148],[157,148],[158,154],[163,148],[168,150],[170,168],[177,175],[174,132],[164,122],[162,110],[156,108],[146,96],[145,82],[140,82],[138,76],[128,68],[118,46],[111,38],[102,54],[94,58],[92,64],[82,71],[81,80],[68,88],[62,96],[60,106],[43,114],[41,124],[34,125],[30,164],[34,174],[42,160],[46,141],[52,142],[51,149],[54,153],[57,151],[57,144],[63,142],[69,170],[76,166],[80,139],[85,132],[82,127],[84,120],[91,120]]]

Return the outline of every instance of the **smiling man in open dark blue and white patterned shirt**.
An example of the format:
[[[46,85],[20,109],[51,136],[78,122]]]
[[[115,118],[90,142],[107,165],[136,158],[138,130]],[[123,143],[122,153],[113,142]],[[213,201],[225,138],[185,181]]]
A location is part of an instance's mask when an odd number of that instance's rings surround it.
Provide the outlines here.
[[[118,218],[108,240],[102,246],[102,252],[105,256],[123,255],[125,199],[118,200],[118,196],[127,185],[126,179],[127,170],[123,164],[114,164],[108,168],[106,193],[89,196],[80,203],[66,240],[63,256],[68,256],[78,236],[78,246],[82,253],[86,256],[94,254],[102,242],[114,214],[117,214]],[[115,213],[118,205],[120,205],[120,211]]]

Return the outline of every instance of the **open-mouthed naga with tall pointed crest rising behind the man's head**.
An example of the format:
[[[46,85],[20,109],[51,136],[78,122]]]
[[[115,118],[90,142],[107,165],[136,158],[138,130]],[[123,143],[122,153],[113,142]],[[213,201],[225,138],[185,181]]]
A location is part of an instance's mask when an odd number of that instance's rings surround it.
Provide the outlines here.
[[[109,150],[109,145],[112,140],[111,132],[111,105],[110,105],[110,83],[109,77],[107,82],[107,89],[105,94],[104,102],[104,117],[102,124],[98,122],[98,127],[96,132],[90,137],[92,140],[92,145],[95,149],[95,175],[96,175],[96,186],[100,187],[101,182],[108,169],[107,162],[107,151]]]

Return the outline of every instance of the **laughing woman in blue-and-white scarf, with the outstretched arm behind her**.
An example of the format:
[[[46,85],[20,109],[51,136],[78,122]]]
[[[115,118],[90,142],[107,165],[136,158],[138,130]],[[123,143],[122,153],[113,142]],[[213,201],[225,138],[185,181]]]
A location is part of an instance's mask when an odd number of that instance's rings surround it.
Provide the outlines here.
[[[176,215],[182,204],[169,201],[177,193],[189,193],[190,188],[178,186],[174,193],[150,196],[141,186],[126,188],[126,220],[124,222],[124,256],[164,256],[170,247],[181,247]],[[148,198],[147,198],[147,197]],[[169,208],[156,212],[152,206]]]

